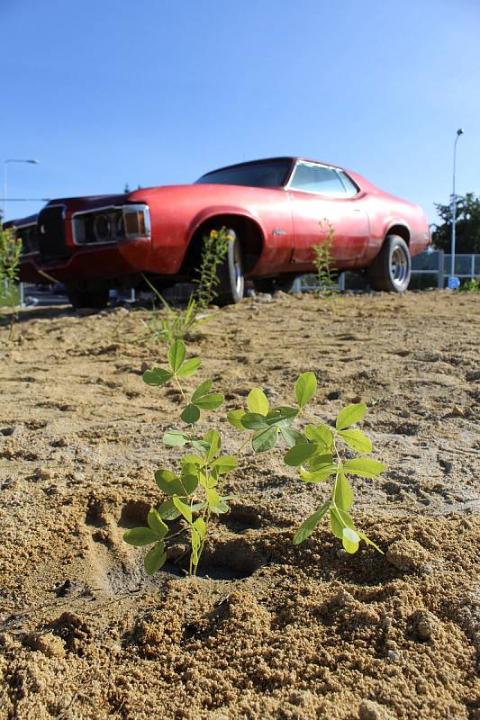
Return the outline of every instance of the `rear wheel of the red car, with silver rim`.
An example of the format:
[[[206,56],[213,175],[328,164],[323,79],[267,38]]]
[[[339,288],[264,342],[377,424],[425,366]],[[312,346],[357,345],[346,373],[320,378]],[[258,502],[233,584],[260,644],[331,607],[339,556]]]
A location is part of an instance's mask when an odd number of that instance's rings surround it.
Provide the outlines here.
[[[367,278],[374,290],[404,293],[412,275],[412,258],[406,242],[399,235],[388,235]]]

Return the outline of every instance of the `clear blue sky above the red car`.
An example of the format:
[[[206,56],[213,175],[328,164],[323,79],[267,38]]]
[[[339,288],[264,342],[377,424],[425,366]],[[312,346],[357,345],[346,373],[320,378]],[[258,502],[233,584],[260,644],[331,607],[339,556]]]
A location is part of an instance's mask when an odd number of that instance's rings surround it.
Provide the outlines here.
[[[478,0],[0,0],[10,197],[301,155],[418,202],[480,194]],[[41,202],[11,202],[7,217]]]

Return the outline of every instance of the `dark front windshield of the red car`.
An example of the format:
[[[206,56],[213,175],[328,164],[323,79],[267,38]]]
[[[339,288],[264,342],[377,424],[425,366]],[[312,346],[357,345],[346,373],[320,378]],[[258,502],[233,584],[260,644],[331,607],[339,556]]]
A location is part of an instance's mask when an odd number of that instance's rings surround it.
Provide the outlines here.
[[[282,187],[292,166],[289,157],[260,160],[258,163],[234,165],[202,175],[195,184],[246,185],[247,187]]]

